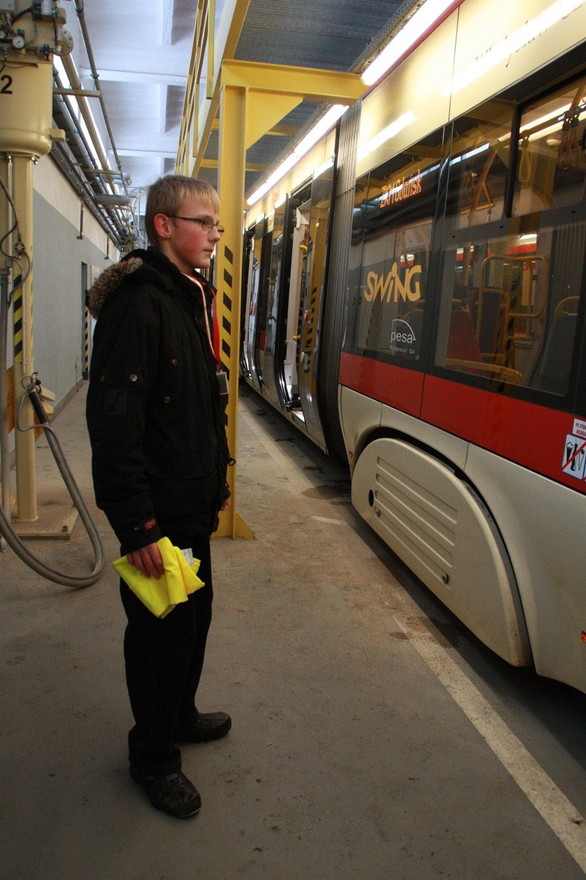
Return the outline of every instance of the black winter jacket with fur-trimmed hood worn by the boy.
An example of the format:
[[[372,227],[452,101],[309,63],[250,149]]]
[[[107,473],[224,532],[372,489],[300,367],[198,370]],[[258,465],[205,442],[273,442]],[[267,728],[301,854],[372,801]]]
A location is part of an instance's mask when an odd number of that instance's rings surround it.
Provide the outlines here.
[[[92,475],[122,553],[163,534],[211,534],[229,495],[227,399],[199,288],[148,248],[106,269],[88,308],[98,318],[86,406]]]

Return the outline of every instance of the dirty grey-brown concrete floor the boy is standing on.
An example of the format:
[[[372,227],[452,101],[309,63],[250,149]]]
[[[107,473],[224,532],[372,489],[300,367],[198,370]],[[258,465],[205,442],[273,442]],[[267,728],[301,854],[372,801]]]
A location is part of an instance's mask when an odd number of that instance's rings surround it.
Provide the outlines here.
[[[80,392],[55,429],[92,502],[83,403]],[[542,686],[531,671],[511,672],[517,690],[509,692],[505,664],[366,530],[344,469],[278,414],[259,420],[267,408],[244,389],[237,510],[256,539],[213,542],[214,620],[199,708],[228,711],[233,729],[184,748],[184,772],[203,799],[196,818],[158,813],[127,774],[124,615],[109,562],[98,583],[68,590],[11,550],[0,557],[0,876],[583,876],[426,661],[425,646],[492,689],[510,724],[518,708],[532,751],[568,781],[582,810],[583,695]],[[40,492],[47,498],[50,485],[59,500],[40,447]],[[112,560],[116,541],[90,510]],[[37,541],[33,550],[54,568],[90,570],[79,523],[70,541]],[[524,694],[532,709],[521,705]],[[550,722],[539,717],[544,700]]]

